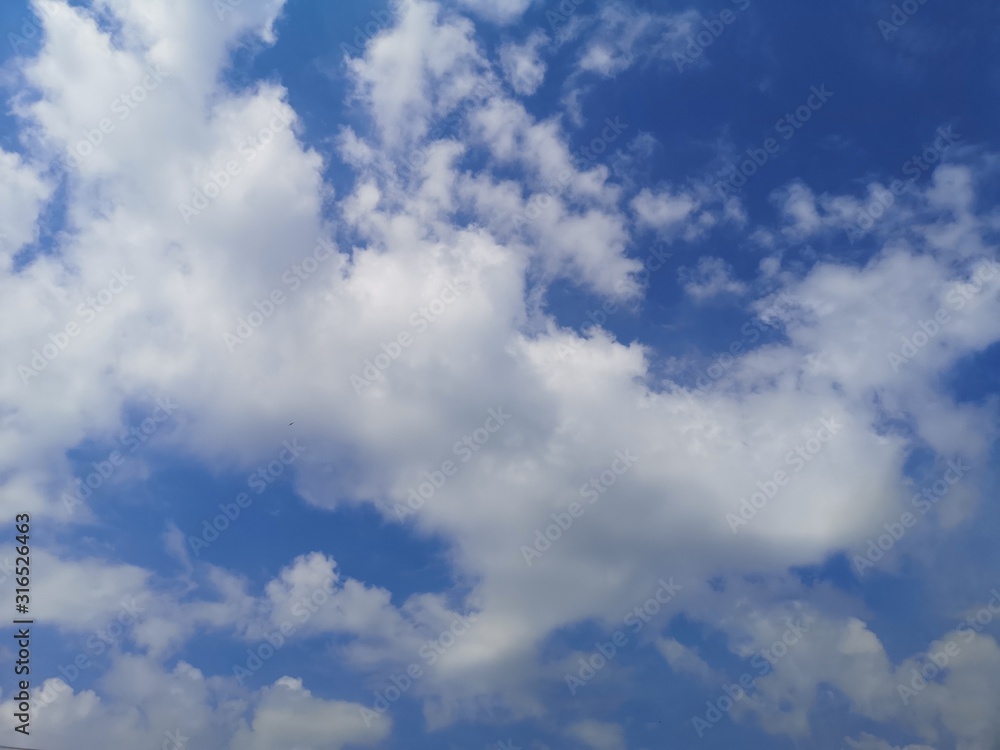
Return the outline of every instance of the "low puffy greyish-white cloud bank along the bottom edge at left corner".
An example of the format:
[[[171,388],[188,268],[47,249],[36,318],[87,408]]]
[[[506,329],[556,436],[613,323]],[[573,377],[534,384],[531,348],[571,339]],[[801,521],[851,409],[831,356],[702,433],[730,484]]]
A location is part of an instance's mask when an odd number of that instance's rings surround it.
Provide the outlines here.
[[[211,678],[181,661],[170,672],[141,657],[118,655],[95,690],[62,679],[38,684],[32,739],[42,747],[213,747],[339,750],[385,739],[392,721],[369,717],[362,705],[313,696],[302,681],[282,677],[253,696],[232,680]],[[0,718],[13,733],[14,702]]]

